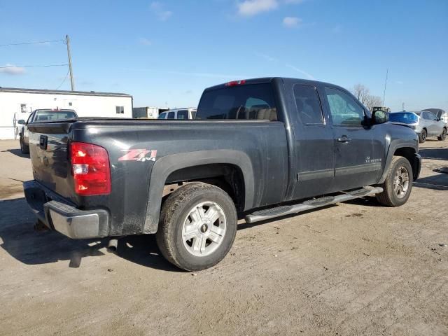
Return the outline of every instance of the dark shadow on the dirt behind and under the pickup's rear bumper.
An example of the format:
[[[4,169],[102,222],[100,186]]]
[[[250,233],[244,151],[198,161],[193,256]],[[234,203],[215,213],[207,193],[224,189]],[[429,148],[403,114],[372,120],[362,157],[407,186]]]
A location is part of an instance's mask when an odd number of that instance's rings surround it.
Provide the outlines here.
[[[106,252],[108,239],[69,239],[58,232],[34,231],[34,214],[25,198],[0,202],[0,246],[26,265],[41,265],[69,260],[69,267],[80,267],[85,257]],[[158,250],[153,235],[123,237],[115,253],[120,258],[145,267],[181,272]]]

